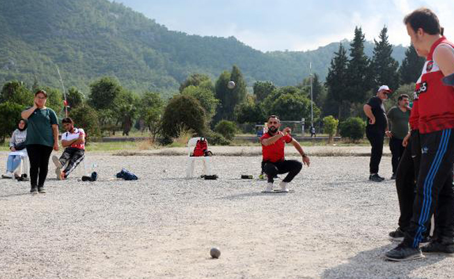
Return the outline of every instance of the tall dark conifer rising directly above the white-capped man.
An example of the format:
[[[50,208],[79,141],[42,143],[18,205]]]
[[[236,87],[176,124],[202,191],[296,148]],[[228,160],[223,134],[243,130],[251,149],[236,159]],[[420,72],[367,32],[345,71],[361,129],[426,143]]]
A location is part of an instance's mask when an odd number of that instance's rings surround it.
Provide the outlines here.
[[[394,91],[399,86],[399,63],[391,57],[393,46],[388,41],[387,33],[388,29],[383,27],[382,31],[380,31],[379,41],[374,40],[375,47],[371,65],[373,88],[386,84]]]

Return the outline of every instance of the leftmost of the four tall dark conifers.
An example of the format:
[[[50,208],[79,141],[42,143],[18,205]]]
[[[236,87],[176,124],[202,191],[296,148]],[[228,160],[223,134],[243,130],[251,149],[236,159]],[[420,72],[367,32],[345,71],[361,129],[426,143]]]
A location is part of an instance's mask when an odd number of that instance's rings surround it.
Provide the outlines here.
[[[324,115],[335,114],[340,118],[342,103],[347,98],[347,52],[342,44],[334,52],[327,75],[327,100],[324,102]]]

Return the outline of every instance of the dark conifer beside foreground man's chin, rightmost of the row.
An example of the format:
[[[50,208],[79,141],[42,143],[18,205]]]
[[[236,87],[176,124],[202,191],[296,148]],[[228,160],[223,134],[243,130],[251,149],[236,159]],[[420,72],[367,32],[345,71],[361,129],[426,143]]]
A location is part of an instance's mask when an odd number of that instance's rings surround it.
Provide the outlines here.
[[[411,84],[416,82],[421,75],[425,59],[418,56],[413,45],[405,51],[405,59],[399,68],[400,84]]]

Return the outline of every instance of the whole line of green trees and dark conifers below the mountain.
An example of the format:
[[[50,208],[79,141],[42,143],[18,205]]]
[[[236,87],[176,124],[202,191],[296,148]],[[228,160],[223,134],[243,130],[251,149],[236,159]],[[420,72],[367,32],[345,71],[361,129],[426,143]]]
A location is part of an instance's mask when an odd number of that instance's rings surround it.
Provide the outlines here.
[[[277,114],[283,120],[311,119],[312,84],[313,124],[320,127],[329,123],[331,127],[334,120],[363,118],[363,103],[375,95],[381,84],[397,92],[412,91],[412,85],[408,84],[418,78],[424,63],[411,46],[399,66],[391,56],[386,27],[379,33],[379,40],[375,40],[373,57],[368,58],[364,53],[364,43],[362,30],[356,27],[350,54],[347,56],[347,50],[340,44],[324,83],[315,74],[294,86],[276,86],[265,80],[247,88],[240,68],[233,66],[214,82],[209,75],[193,73],[180,84],[179,93],[164,99],[162,93],[138,94],[125,89],[115,77],[101,77],[89,84],[88,96],[75,87],[66,92],[69,115],[92,138],[115,135],[118,130],[129,135],[135,127],[148,130],[152,140],[164,144],[187,130],[204,135],[213,143],[227,144],[239,125],[251,129],[253,124],[263,123],[269,114]],[[228,88],[230,81],[235,82],[233,88]],[[38,89],[45,89],[49,94],[47,106],[60,116],[65,115],[63,93],[59,89],[40,86],[38,80],[31,87],[17,80],[6,82],[0,96],[0,140],[15,129],[19,112],[32,104],[33,93]],[[322,117],[331,115],[334,117],[329,122],[322,121]],[[352,123],[349,121],[345,123]]]

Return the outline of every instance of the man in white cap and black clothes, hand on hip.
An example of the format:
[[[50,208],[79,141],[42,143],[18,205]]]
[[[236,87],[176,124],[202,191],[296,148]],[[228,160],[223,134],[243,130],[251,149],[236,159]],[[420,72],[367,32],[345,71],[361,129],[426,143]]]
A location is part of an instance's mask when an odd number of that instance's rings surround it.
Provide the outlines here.
[[[370,98],[363,107],[364,113],[369,119],[366,126],[366,137],[372,146],[370,151],[369,180],[375,182],[384,181],[384,178],[378,175],[378,166],[380,165],[380,160],[382,160],[384,134],[388,130],[388,119],[386,118],[383,101],[388,99],[388,94],[391,92],[387,85],[380,86],[377,96]]]

